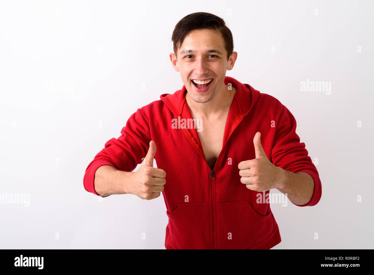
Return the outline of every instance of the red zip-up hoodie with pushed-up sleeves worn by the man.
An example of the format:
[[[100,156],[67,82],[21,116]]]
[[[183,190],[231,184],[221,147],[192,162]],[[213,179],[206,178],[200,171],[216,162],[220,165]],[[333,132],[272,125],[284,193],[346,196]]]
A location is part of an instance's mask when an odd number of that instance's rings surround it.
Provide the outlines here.
[[[86,191],[99,195],[94,188],[96,169],[110,165],[131,172],[154,140],[157,168],[166,172],[162,195],[169,217],[167,249],[269,249],[281,242],[270,204],[256,203],[256,195],[262,192],[240,182],[238,164],[255,158],[256,132],[261,132],[262,147],[275,166],[312,176],[313,196],[302,206],[313,206],[321,198],[318,171],[305,143],[300,143],[295,118],[286,106],[232,77],[226,76],[224,83],[231,83],[237,92],[213,170],[205,160],[198,129],[172,128],[173,118],[192,119],[184,85],[174,94],[163,94],[160,100],[137,109],[121,136],[108,140],[86,169],[83,185]],[[181,124],[184,128],[183,121]]]

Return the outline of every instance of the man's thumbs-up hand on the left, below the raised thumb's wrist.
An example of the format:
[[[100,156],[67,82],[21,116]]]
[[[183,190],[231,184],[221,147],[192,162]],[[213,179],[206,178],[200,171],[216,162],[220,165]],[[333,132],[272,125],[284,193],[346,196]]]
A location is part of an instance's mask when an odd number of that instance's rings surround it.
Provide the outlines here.
[[[129,192],[144,200],[152,200],[159,197],[166,183],[166,172],[153,167],[155,154],[156,144],[151,140],[142,165],[132,174],[130,180]]]

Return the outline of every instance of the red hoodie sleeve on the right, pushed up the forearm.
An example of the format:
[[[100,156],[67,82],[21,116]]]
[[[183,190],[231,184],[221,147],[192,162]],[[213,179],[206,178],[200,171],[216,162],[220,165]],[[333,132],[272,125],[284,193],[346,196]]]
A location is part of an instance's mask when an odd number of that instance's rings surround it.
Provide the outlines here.
[[[321,180],[317,168],[308,156],[305,143],[300,143],[300,137],[296,134],[296,120],[291,112],[283,105],[283,110],[278,121],[274,144],[272,148],[272,163],[294,173],[308,173],[314,180],[314,190],[310,201],[304,205],[316,205],[322,194]]]

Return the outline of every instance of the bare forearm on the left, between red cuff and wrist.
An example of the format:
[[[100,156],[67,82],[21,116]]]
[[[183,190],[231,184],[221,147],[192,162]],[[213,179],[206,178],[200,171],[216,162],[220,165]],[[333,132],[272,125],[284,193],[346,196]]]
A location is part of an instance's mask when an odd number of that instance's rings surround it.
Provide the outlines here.
[[[100,166],[95,172],[95,191],[103,197],[128,194],[127,186],[132,172],[117,170],[113,166]]]

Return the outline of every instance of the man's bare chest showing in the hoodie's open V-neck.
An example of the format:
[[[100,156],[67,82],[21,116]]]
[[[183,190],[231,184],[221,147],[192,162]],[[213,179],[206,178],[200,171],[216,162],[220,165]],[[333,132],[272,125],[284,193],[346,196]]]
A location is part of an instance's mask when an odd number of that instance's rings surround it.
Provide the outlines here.
[[[202,131],[198,132],[206,162],[212,170],[222,150],[226,120],[227,114],[219,119],[203,120]]]

